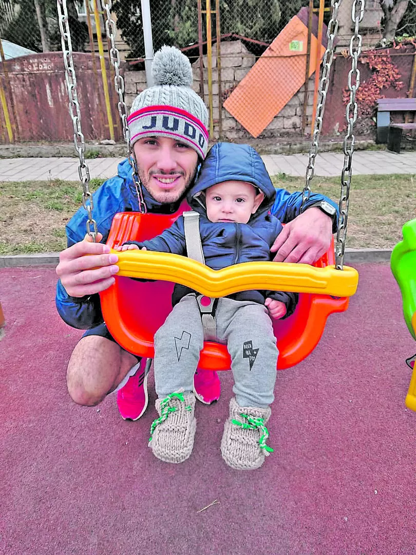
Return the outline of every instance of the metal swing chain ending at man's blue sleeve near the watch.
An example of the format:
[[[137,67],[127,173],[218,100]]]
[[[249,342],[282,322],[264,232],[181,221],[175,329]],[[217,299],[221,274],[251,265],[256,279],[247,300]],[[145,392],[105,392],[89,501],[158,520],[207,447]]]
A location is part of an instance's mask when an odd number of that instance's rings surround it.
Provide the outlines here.
[[[315,161],[316,161],[316,156],[318,154],[319,135],[321,134],[322,117],[323,117],[325,101],[326,101],[327,92],[328,92],[329,73],[331,72],[331,65],[332,65],[332,60],[334,56],[333,45],[334,45],[334,39],[337,36],[337,32],[338,32],[337,17],[338,17],[338,8],[339,8],[340,1],[337,2],[336,0],[331,0],[331,20],[328,23],[328,30],[327,30],[328,44],[322,60],[322,78],[321,78],[321,81],[319,82],[318,105],[316,108],[316,118],[314,122],[314,130],[313,130],[311,149],[309,153],[309,160],[306,168],[306,182],[303,188],[301,212],[303,211],[303,206],[305,205],[306,201],[309,199],[312,192],[310,184],[311,184],[313,175],[315,173]],[[317,47],[319,47],[319,45]],[[318,71],[318,68],[316,70]]]

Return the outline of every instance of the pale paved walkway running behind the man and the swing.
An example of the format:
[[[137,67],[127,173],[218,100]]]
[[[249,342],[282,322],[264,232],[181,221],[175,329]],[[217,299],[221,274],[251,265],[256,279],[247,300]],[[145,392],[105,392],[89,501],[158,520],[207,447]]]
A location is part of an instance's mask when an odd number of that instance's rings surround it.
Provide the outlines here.
[[[308,154],[267,154],[263,160],[270,175],[305,176]],[[92,178],[116,175],[117,164],[123,158],[87,160]],[[318,154],[315,175],[341,175],[343,153]],[[394,154],[387,150],[357,150],[353,158],[353,174],[414,174],[416,152]],[[0,159],[0,180],[27,181],[45,179],[78,180],[78,158],[5,158]]]

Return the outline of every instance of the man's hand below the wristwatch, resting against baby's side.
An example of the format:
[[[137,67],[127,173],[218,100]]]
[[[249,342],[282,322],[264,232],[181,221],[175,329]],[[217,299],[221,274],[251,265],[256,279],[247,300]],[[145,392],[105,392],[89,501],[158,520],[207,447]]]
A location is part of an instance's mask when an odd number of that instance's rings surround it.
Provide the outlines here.
[[[275,262],[313,264],[331,244],[332,219],[313,206],[283,226],[270,249]]]

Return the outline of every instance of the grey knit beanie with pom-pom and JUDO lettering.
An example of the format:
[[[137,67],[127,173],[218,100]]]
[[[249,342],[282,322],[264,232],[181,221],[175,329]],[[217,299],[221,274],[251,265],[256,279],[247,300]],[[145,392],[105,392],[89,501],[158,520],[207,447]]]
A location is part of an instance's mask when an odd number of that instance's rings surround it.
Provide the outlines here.
[[[142,137],[170,137],[188,144],[204,159],[208,149],[208,110],[191,89],[189,59],[173,46],[156,52],[152,75],[155,85],[140,93],[128,117],[130,143]]]

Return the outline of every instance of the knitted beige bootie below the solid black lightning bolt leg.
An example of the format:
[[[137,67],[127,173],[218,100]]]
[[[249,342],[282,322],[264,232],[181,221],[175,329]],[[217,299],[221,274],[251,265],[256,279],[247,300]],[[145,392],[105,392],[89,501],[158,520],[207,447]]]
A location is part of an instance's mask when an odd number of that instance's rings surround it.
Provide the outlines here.
[[[265,424],[270,415],[270,407],[240,407],[232,397],[230,417],[225,422],[221,441],[221,454],[227,465],[237,470],[252,470],[263,464],[265,456],[273,452],[266,445]]]

